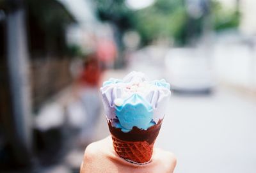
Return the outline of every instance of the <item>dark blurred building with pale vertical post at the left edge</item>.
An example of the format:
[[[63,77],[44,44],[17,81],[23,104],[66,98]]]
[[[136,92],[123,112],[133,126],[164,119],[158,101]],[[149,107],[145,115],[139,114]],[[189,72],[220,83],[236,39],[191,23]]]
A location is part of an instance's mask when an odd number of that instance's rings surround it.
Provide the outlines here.
[[[65,27],[76,20],[58,1],[1,1],[0,5],[0,165],[8,168],[30,165],[32,114],[71,82]]]

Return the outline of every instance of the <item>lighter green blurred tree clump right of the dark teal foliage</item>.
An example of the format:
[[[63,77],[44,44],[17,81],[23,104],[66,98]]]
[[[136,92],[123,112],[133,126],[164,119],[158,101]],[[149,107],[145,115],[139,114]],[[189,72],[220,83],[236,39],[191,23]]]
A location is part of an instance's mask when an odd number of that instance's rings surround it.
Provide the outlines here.
[[[157,38],[180,40],[186,23],[183,1],[159,0],[148,8],[135,11],[134,27],[143,43]]]

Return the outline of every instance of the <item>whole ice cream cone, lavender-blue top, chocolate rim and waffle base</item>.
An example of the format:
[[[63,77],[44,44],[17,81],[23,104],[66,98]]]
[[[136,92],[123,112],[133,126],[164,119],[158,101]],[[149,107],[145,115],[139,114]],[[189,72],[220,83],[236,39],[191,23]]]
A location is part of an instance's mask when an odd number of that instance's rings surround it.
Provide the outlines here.
[[[149,162],[170,99],[170,84],[164,79],[148,81],[143,73],[132,71],[122,80],[104,82],[100,91],[116,153],[133,163]],[[138,151],[147,156],[139,156]]]

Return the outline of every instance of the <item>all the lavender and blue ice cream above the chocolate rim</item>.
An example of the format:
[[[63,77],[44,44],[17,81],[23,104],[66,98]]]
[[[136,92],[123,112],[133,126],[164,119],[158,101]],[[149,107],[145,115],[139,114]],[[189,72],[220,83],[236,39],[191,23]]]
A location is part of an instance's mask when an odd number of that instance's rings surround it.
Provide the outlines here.
[[[161,121],[171,95],[170,84],[164,79],[148,81],[136,71],[122,80],[109,79],[100,91],[107,118],[125,133],[133,127],[147,130]]]

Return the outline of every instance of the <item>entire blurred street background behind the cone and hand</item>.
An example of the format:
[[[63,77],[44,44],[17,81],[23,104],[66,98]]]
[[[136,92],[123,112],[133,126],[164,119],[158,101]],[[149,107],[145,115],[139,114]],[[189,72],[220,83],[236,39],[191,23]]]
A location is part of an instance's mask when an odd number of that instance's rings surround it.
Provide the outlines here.
[[[256,172],[255,16],[253,0],[0,0],[0,172],[79,172],[109,135],[102,81],[132,70],[171,84],[156,146],[175,172]]]

